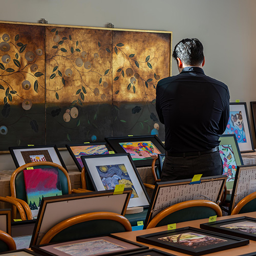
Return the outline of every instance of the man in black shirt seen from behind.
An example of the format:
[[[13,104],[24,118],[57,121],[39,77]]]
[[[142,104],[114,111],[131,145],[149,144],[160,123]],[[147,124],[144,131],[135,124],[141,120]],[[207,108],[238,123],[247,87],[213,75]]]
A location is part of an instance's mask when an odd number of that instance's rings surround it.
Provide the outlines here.
[[[203,45],[183,39],[174,48],[180,74],[160,80],[156,110],[165,125],[161,181],[222,175],[218,145],[229,118],[229,91],[204,74]]]

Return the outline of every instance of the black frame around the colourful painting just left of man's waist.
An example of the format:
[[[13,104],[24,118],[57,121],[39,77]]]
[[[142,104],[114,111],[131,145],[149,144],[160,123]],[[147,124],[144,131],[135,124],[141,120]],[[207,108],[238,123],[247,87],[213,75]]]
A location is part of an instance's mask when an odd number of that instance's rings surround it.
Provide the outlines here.
[[[109,137],[109,138],[105,138],[105,141],[110,144],[110,146],[113,148],[115,153],[129,153],[129,152],[126,152],[119,143],[150,141],[161,154],[165,154],[164,144],[156,135]],[[156,153],[155,155],[157,156],[158,154],[159,153]],[[133,161],[136,167],[151,166],[153,158],[133,160]]]

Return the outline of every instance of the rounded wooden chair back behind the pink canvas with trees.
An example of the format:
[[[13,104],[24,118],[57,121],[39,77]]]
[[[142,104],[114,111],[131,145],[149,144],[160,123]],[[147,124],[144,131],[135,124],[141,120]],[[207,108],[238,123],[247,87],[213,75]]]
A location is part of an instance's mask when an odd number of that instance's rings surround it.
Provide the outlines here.
[[[18,167],[12,174],[10,180],[11,196],[19,198],[27,202],[27,195],[25,189],[23,170],[28,167],[36,168],[47,168],[47,167],[57,167],[59,173],[59,180],[61,184],[62,195],[71,194],[71,181],[68,172],[65,168],[59,164],[52,162],[34,162],[27,163]]]

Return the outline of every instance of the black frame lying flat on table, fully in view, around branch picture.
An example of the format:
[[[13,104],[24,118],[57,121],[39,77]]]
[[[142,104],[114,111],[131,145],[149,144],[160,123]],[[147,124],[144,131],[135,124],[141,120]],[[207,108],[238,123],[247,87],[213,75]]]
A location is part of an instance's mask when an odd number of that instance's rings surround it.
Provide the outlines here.
[[[186,234],[186,233],[190,233],[189,234],[190,238],[193,235],[192,233],[195,233],[195,239],[199,238],[200,240],[202,240],[204,236],[206,236],[206,237],[214,238],[216,242],[217,240],[220,240],[220,241],[218,244],[214,243],[214,244],[209,244],[204,246],[198,245],[197,246],[198,248],[191,248],[186,245],[176,244],[176,242],[160,240],[160,238],[166,238],[166,237],[167,237],[166,240],[170,240],[170,238],[168,238],[170,236],[176,236],[176,239],[177,239],[177,236],[179,236],[179,242],[182,243],[182,241],[180,240],[181,236],[182,234]],[[207,243],[210,243],[209,242],[210,238],[208,238]],[[175,237],[173,239],[175,239]],[[138,242],[159,246],[169,250],[175,250],[175,251],[187,253],[194,256],[199,256],[199,255],[203,255],[211,252],[226,250],[226,249],[249,244],[248,239],[233,237],[227,234],[217,233],[217,232],[203,230],[203,229],[194,228],[194,227],[184,227],[184,228],[167,230],[167,231],[162,231],[157,233],[144,234],[143,236],[136,237],[136,240]],[[187,239],[185,240],[187,241]],[[221,240],[224,240],[224,242],[221,242]],[[196,242],[199,243],[204,241],[196,241]],[[190,240],[190,243],[191,243],[191,240]]]

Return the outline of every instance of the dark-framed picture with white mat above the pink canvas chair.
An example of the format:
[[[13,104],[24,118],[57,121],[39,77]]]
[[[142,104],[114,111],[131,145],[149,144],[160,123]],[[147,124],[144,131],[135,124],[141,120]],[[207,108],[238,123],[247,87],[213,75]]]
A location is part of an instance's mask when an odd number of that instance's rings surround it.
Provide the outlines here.
[[[67,169],[56,145],[9,147],[9,151],[17,168],[26,163],[53,162]]]

